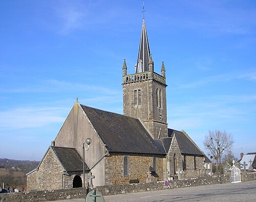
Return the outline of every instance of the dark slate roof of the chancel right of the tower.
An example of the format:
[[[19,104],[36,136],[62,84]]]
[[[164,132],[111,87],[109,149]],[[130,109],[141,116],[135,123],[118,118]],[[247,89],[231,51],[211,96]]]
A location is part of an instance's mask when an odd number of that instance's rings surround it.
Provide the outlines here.
[[[169,137],[173,137],[174,134],[177,139],[178,145],[180,147],[181,154],[204,156],[204,154],[198,148],[198,146],[187,135],[185,135],[181,131],[176,131],[174,129],[168,129]]]

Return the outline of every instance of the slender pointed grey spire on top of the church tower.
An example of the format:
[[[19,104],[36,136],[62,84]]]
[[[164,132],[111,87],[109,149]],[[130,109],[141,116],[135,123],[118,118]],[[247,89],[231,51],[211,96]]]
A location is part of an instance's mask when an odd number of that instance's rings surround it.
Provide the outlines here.
[[[138,60],[135,65],[136,73],[148,71],[149,59],[150,59],[150,46],[148,45],[146,24],[145,24],[145,20],[143,18]]]

